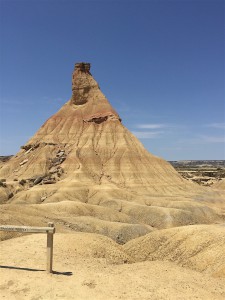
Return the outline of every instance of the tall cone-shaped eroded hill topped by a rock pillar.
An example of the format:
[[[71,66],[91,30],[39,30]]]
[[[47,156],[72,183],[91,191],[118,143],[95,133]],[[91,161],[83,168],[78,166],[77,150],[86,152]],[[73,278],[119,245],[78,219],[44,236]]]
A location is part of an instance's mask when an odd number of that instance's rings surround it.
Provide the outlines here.
[[[181,178],[123,126],[89,63],[75,64],[71,99],[1,166],[0,178],[7,179],[2,203],[73,201],[93,206],[93,215],[104,207],[107,221],[159,228],[218,218],[196,202],[215,195]]]

